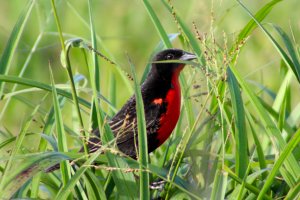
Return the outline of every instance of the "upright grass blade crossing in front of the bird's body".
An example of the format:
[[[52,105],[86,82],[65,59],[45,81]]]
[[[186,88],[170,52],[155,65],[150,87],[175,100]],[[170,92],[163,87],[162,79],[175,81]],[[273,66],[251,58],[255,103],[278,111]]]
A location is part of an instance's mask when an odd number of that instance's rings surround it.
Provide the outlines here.
[[[134,80],[134,89],[136,97],[137,125],[138,125],[138,148],[139,148],[139,163],[140,163],[140,199],[150,199],[149,191],[149,173],[148,169],[148,145],[147,145],[147,130],[144,112],[144,103],[141,93],[141,87],[138,83],[136,72],[132,62],[129,60],[131,72]]]

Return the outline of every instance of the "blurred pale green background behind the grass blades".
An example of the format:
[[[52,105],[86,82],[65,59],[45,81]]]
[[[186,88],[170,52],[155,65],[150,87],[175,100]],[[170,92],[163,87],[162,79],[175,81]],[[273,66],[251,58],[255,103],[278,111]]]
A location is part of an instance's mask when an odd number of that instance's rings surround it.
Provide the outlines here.
[[[80,37],[90,41],[87,2],[82,0],[59,2],[57,4],[58,15],[61,20],[62,31],[66,34],[65,39]],[[253,13],[266,2],[268,1],[244,1]],[[26,3],[27,1],[20,0],[0,1],[0,52],[5,48],[9,35]],[[220,46],[224,46],[224,35],[228,43],[232,43],[240,29],[250,20],[247,13],[233,0],[174,0],[171,3],[176,14],[189,25],[191,30],[194,30],[194,22],[200,34],[214,33],[216,43]],[[162,5],[162,2],[153,0],[151,4],[165,30],[169,34],[180,33],[172,15]],[[128,54],[136,66],[139,77],[141,77],[153,49],[159,43],[157,31],[143,4],[137,0],[99,0],[93,1],[92,8],[95,15],[96,33],[102,39],[102,45],[98,46],[98,50],[109,58],[114,58],[114,61],[125,71],[130,72],[126,56]],[[268,22],[279,25],[297,43],[300,35],[299,10],[298,0],[283,1],[273,8],[263,24],[266,28],[268,28]],[[31,13],[14,55],[9,74],[17,75],[19,73],[40,33],[43,33],[41,41],[30,60],[24,77],[49,83],[49,65],[51,65],[56,83],[66,83],[68,79],[66,71],[60,64],[61,46],[51,13],[51,4],[50,1],[46,0],[37,1]],[[174,47],[182,48],[178,38],[173,44]],[[246,48],[239,55],[238,69],[245,78],[258,81],[271,90],[277,90],[280,84],[277,81],[280,58],[274,47],[258,29],[247,40],[245,46]],[[74,71],[87,75],[81,51],[72,50],[71,55]],[[111,82],[110,70],[107,69],[114,66],[102,59],[100,59],[100,65],[102,93],[109,98]],[[122,89],[124,87],[122,81],[116,81],[116,83],[117,91],[119,91],[116,107],[120,108],[131,94],[128,90]],[[10,88],[11,84],[6,84],[5,87]],[[293,89],[294,92],[298,92],[296,87]],[[36,104],[43,94],[41,96],[39,93],[33,94],[34,96],[25,94],[24,97]],[[293,102],[298,101],[297,98],[293,99]],[[14,132],[19,129],[20,124],[28,115],[27,111],[30,113],[31,109],[27,110],[27,107],[18,100],[12,102],[1,118],[0,129],[7,128]],[[3,104],[4,101],[0,101],[0,109]]]

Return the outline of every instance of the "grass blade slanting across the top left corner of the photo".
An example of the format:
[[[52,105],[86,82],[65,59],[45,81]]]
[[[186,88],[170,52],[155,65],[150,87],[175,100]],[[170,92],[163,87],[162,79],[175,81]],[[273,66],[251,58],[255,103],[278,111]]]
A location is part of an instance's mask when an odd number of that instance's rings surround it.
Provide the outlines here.
[[[19,19],[15,24],[12,33],[10,34],[6,47],[0,58],[0,74],[6,75],[8,73],[14,52],[16,51],[17,45],[21,39],[21,35],[23,33],[27,20],[30,16],[34,2],[35,1],[33,0],[30,0],[28,2],[23,12],[19,16]],[[0,99],[2,98],[2,95],[3,95],[3,82],[0,81]]]

